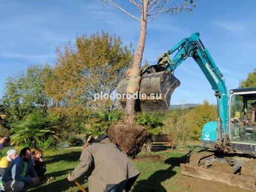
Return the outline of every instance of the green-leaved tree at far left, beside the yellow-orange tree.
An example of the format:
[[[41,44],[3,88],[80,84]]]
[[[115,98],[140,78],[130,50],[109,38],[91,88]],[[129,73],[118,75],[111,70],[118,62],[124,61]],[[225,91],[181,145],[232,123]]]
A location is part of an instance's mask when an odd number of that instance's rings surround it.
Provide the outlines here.
[[[49,72],[48,65],[34,65],[27,69],[26,74],[21,72],[6,79],[2,104],[9,113],[9,123],[21,120],[35,109],[47,111],[50,97],[45,94],[44,86]]]

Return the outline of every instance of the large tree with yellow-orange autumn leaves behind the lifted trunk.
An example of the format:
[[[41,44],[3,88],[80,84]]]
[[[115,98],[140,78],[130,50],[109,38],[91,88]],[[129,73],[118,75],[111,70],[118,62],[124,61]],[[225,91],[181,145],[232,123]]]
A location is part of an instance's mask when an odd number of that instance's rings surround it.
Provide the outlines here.
[[[111,100],[94,102],[94,97],[100,92],[112,94],[132,60],[132,51],[120,38],[103,31],[84,35],[76,39],[76,48],[68,44],[58,48],[57,54],[54,74],[46,87],[55,106],[81,110],[114,107]]]

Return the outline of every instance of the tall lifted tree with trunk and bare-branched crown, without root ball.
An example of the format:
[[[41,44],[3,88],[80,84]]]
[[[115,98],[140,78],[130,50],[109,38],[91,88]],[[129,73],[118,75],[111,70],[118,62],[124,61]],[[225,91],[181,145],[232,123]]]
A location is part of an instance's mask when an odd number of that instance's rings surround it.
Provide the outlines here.
[[[139,40],[137,44],[136,53],[133,59],[133,71],[136,71],[139,74],[140,66],[142,64],[142,57],[145,48],[146,42],[146,34],[147,34],[147,22],[153,21],[157,18],[160,14],[167,13],[167,14],[178,14],[180,11],[192,11],[192,8],[195,7],[195,2],[193,0],[190,1],[179,1],[180,4],[173,5],[173,1],[169,0],[129,0],[128,2],[130,5],[133,5],[135,11],[130,11],[131,9],[128,8],[128,5],[125,6],[121,4],[120,1],[114,0],[101,0],[102,4],[105,6],[110,6],[110,8],[118,8],[124,12],[124,14],[129,15],[136,21],[140,22],[140,32],[139,32]],[[129,11],[128,11],[129,10]],[[137,14],[138,12],[138,14]],[[137,75],[135,75],[137,76]],[[135,77],[134,76],[134,77]],[[134,92],[127,92],[127,94],[133,94],[139,91],[139,84],[140,81],[133,82],[133,78],[129,78],[129,84],[136,84],[137,90]],[[136,78],[136,77],[135,77]],[[134,123],[134,105],[135,100],[127,100],[126,102],[126,110],[124,116],[124,122],[127,123]]]

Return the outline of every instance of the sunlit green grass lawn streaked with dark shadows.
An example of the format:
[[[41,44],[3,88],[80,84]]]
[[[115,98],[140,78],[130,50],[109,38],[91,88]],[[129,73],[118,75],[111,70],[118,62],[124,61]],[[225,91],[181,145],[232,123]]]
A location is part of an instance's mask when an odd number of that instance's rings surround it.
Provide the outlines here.
[[[2,154],[9,149],[5,148]],[[29,191],[79,191],[76,184],[67,180],[67,175],[76,167],[81,148],[59,149],[45,153],[47,162],[47,177],[55,177],[55,180],[41,185],[33,185]],[[180,179],[180,163],[185,163],[188,158],[189,148],[180,148],[172,151],[152,152],[152,155],[140,153],[133,164],[140,171],[140,176],[134,184],[132,191],[183,191],[182,186],[173,184]],[[80,178],[80,183],[87,187],[85,178]]]

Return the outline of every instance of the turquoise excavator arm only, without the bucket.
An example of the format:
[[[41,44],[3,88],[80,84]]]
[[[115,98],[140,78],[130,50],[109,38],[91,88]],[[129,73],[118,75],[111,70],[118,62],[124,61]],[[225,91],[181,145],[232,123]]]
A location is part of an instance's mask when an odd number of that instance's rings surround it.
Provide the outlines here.
[[[175,53],[173,58],[169,56]],[[221,121],[222,134],[227,133],[228,121],[228,94],[225,80],[218,67],[212,59],[209,51],[202,44],[199,33],[194,33],[189,38],[182,39],[178,44],[174,45],[169,51],[165,52],[159,58],[157,64],[165,67],[168,71],[175,71],[183,61],[188,57],[192,57],[201,68],[205,77],[215,91],[218,102],[218,117]],[[221,135],[219,135],[219,138]]]

